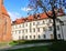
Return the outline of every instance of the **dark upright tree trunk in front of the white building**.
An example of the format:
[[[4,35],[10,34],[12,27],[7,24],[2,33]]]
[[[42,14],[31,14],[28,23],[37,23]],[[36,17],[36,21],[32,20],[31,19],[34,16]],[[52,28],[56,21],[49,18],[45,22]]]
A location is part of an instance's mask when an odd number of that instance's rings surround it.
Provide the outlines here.
[[[56,14],[55,14],[55,7],[52,7],[52,12],[53,12],[53,28],[54,28],[54,31],[53,31],[53,33],[54,33],[54,40],[55,41],[57,41],[57,33],[56,33]]]

